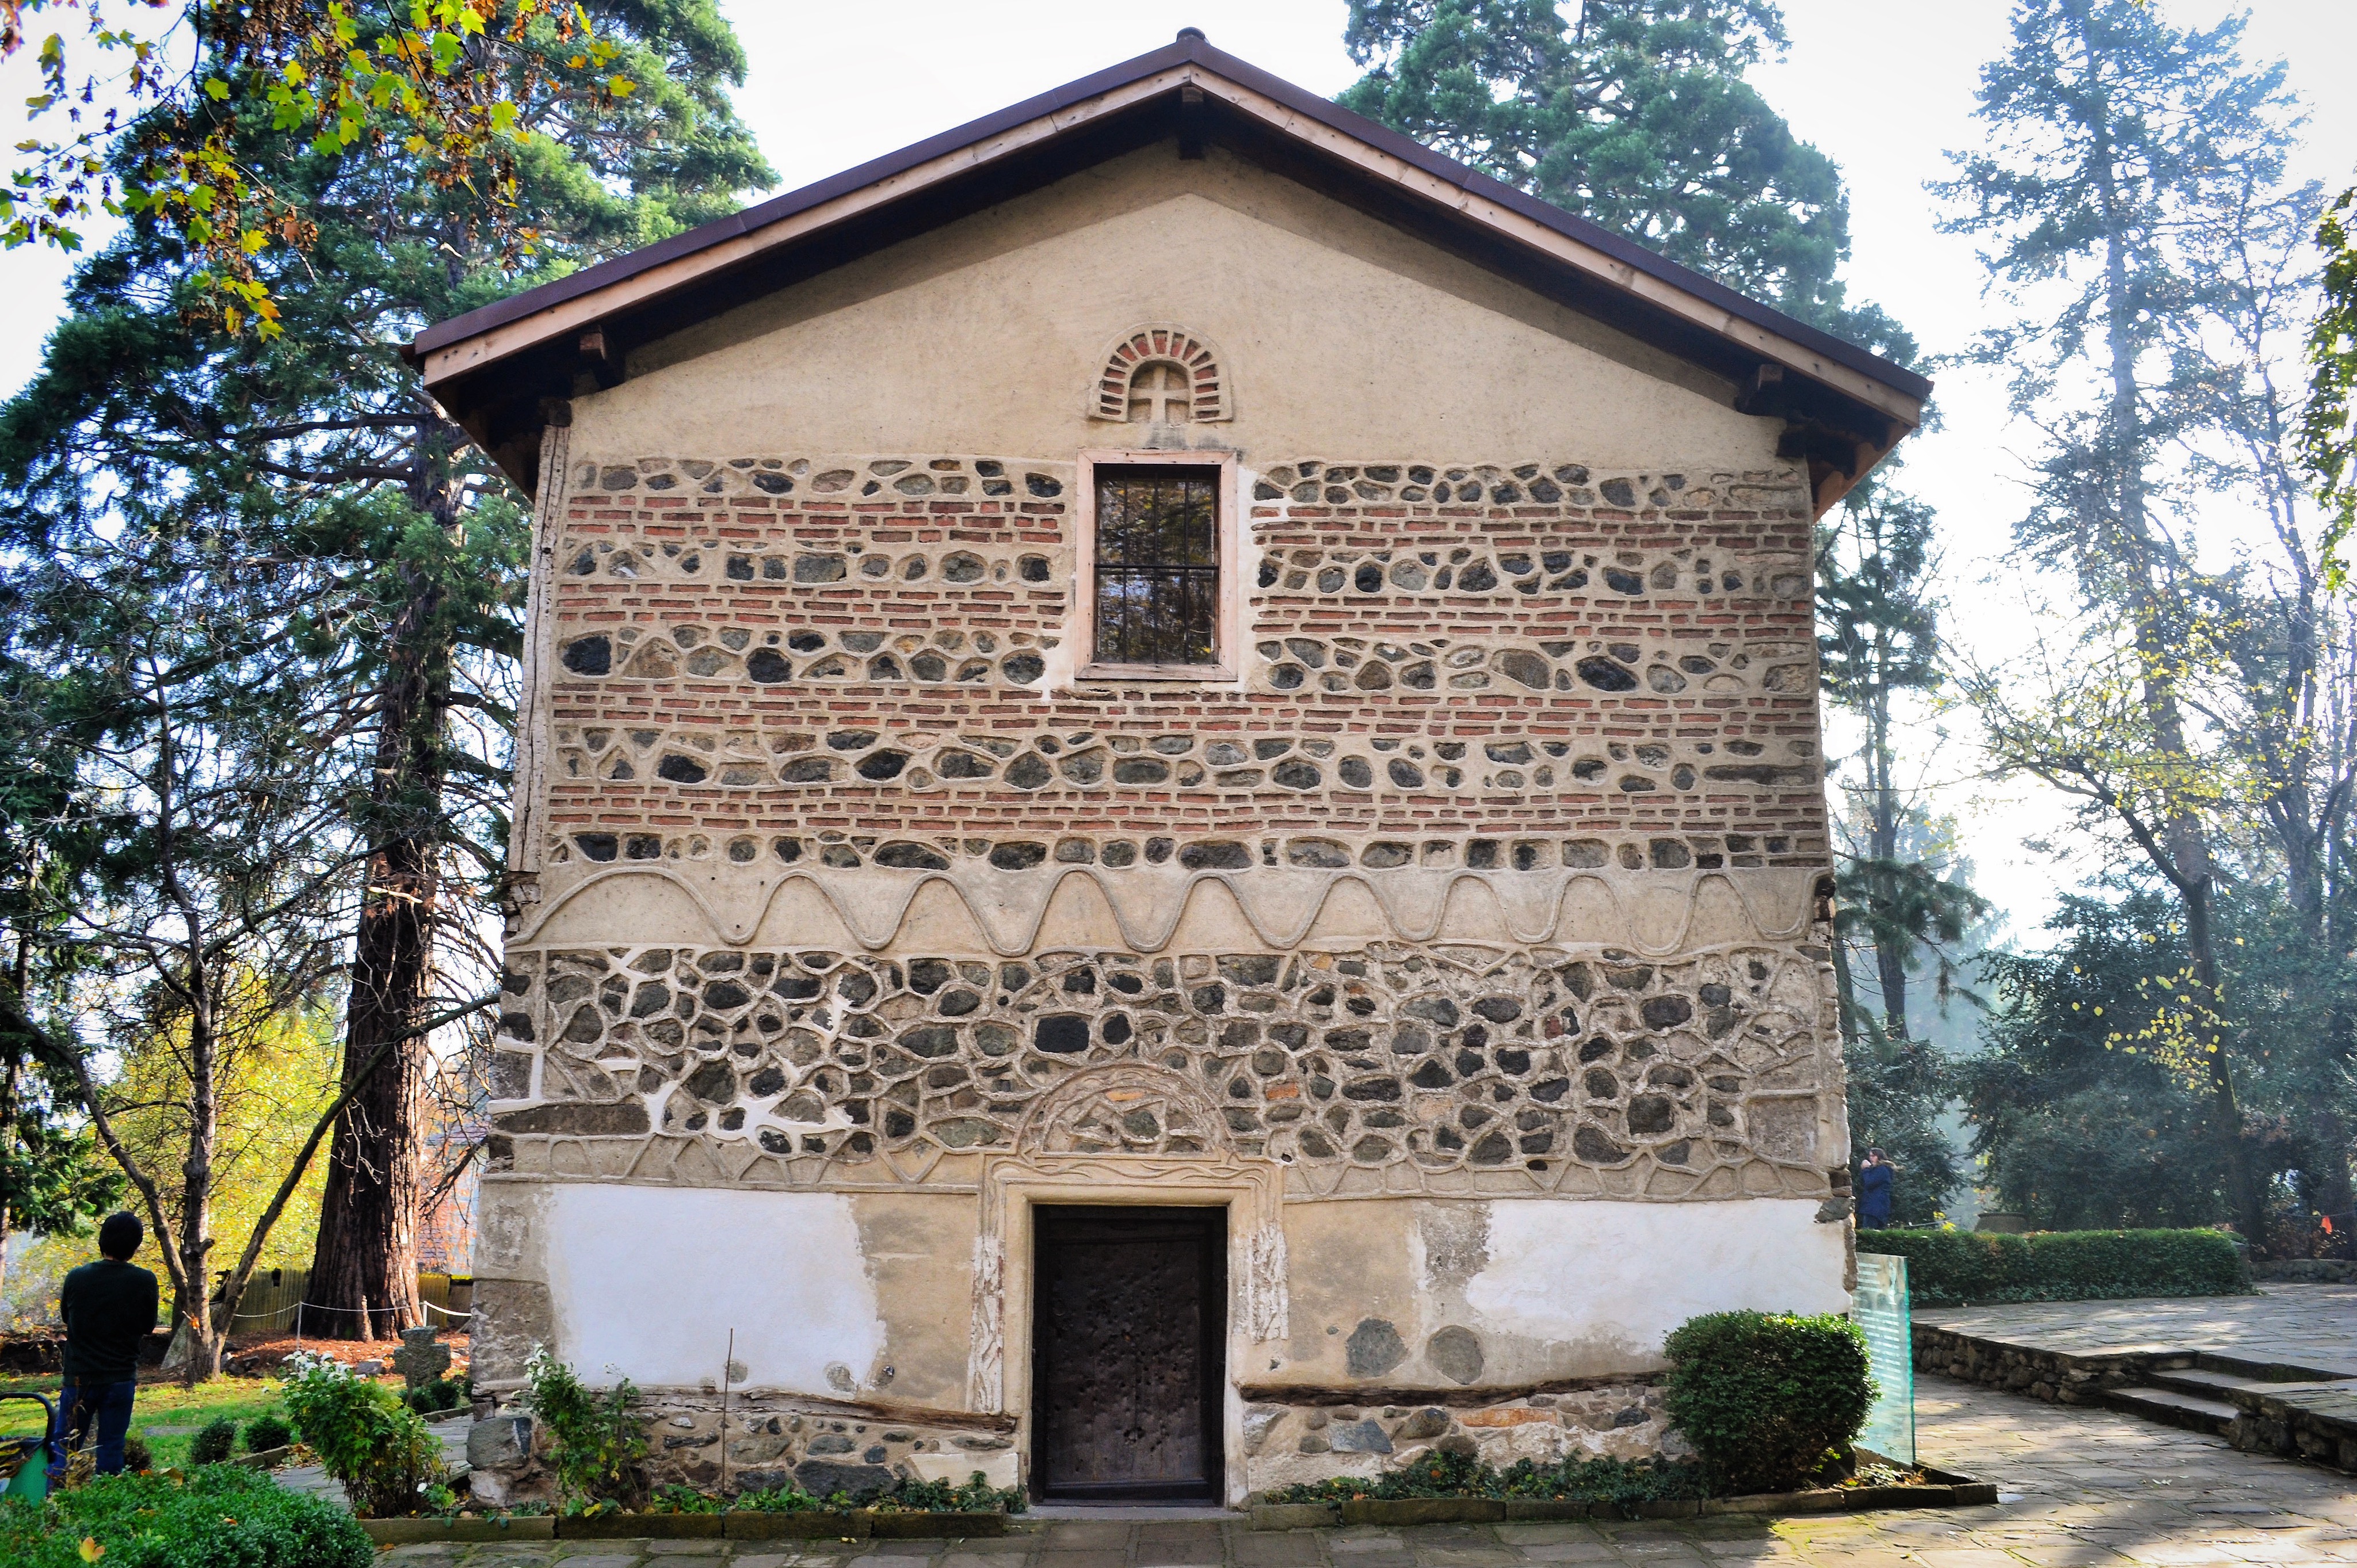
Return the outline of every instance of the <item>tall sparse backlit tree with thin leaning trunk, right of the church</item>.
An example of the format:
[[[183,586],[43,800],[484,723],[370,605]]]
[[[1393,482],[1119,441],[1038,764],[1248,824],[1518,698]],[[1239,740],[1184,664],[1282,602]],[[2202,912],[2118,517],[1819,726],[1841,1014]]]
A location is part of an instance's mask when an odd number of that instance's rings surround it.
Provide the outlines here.
[[[2282,66],[2249,68],[2242,21],[2178,31],[2138,0],[2025,0],[2011,50],[1982,68],[1987,141],[1959,153],[1940,186],[1949,231],[1994,241],[1987,255],[2022,318],[1989,332],[1975,358],[2013,377],[2013,406],[2051,436],[2020,556],[2060,566],[2126,672],[2107,755],[2084,726],[2027,714],[2011,693],[1985,712],[1999,755],[2091,802],[2133,839],[2185,910],[2192,979],[2187,1028],[2206,1063],[2227,1148],[2234,1217],[2263,1233],[2263,1186],[2227,1052],[2218,868],[2218,776],[2194,736],[2190,658],[2211,644],[2216,589],[2164,516],[2164,453],[2199,429],[2183,396],[2180,349],[2201,330],[2204,278],[2183,236],[2220,203],[2249,200],[2282,167],[2291,101]],[[2093,387],[2077,396],[2074,387]],[[2117,637],[2114,637],[2117,634]],[[2128,733],[2133,729],[2133,736]],[[2124,750],[2126,747],[2126,750]],[[2119,766],[2124,757],[2133,766]]]

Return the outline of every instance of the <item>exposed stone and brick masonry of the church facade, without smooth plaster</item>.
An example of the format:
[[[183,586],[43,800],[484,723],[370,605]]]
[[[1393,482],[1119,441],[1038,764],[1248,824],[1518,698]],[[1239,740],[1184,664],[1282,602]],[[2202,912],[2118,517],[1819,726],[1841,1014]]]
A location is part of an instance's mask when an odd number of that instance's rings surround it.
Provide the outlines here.
[[[1226,684],[1075,677],[1070,462],[561,479],[493,1188],[976,1193],[1103,1153],[1268,1162],[1287,1205],[1846,1219],[1798,474],[1247,462]],[[554,1332],[509,1297],[486,1384]],[[1662,1445],[1643,1370],[1471,1365],[1450,1401],[1254,1391],[1254,1485]],[[693,1478],[719,1424],[672,1403]],[[825,1457],[792,1419],[745,1462]],[[933,1419],[877,1441],[997,1441]]]

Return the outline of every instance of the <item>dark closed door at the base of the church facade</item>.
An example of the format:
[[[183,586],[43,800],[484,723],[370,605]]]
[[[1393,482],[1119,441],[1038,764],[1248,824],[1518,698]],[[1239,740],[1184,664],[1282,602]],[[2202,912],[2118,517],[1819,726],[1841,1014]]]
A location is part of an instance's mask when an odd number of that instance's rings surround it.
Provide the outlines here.
[[[1032,1490],[1216,1500],[1228,1210],[1032,1217]]]

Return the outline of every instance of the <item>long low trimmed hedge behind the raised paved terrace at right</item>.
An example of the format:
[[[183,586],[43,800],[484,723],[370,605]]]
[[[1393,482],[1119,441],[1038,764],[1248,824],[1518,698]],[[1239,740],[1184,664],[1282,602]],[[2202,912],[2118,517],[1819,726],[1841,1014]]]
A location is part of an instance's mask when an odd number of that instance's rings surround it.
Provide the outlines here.
[[[2225,1231],[1860,1231],[1857,1250],[1904,1257],[1916,1306],[2251,1294]]]

